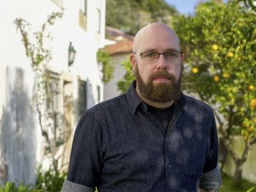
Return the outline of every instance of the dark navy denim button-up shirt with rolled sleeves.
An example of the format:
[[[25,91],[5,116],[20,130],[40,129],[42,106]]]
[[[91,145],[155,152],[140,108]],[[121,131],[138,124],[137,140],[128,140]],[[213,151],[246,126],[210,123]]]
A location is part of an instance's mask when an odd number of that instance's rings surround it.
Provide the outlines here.
[[[185,95],[174,105],[166,132],[135,82],[124,95],[88,109],[76,128],[62,191],[196,192],[204,172],[213,171],[204,186],[219,188],[212,109]]]

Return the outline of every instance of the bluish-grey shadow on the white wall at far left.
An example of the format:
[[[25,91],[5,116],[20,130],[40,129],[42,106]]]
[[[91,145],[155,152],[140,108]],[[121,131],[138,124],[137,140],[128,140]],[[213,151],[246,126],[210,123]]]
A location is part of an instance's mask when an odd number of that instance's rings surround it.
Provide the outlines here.
[[[31,105],[32,74],[23,68],[6,68],[6,105],[2,116],[3,180],[32,184],[36,181],[36,124]],[[29,80],[30,79],[30,80]],[[28,84],[30,83],[30,84]]]

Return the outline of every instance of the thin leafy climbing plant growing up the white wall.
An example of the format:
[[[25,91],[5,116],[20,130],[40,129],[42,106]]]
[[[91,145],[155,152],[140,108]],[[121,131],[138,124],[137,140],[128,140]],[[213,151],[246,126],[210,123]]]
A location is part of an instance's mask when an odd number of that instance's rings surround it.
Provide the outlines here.
[[[42,25],[41,30],[34,33],[30,33],[31,25],[22,18],[17,18],[14,20],[17,30],[20,31],[21,41],[24,45],[26,56],[31,61],[31,68],[35,72],[35,82],[36,82],[36,111],[38,114],[39,126],[44,136],[46,142],[50,148],[50,154],[52,156],[52,163],[54,170],[58,170],[57,162],[55,160],[55,141],[50,139],[49,129],[47,126],[49,124],[45,121],[49,121],[52,117],[45,111],[45,103],[47,98],[51,98],[51,92],[47,92],[47,84],[49,84],[49,75],[47,75],[47,63],[52,60],[51,50],[45,48],[46,40],[52,40],[51,34],[46,29],[52,26],[55,20],[62,17],[61,12],[52,12],[48,19]],[[54,119],[51,119],[54,121]],[[58,160],[58,159],[57,159]]]

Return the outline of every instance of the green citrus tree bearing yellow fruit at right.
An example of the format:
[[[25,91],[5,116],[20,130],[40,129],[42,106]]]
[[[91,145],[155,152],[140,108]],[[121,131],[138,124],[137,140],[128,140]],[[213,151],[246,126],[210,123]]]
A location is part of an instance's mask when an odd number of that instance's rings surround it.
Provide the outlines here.
[[[183,89],[211,104],[238,184],[256,143],[256,13],[241,3],[209,1],[172,27],[186,57]],[[242,156],[231,148],[234,136],[244,140]]]

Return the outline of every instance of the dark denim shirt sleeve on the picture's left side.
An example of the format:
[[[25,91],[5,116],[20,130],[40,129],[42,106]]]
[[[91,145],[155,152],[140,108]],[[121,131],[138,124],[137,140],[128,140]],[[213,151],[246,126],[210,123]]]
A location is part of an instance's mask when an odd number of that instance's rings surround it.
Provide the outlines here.
[[[68,185],[69,191],[77,188],[75,184],[96,188],[100,180],[101,156],[100,119],[97,118],[96,112],[88,110],[76,126],[68,166],[69,182],[67,181],[68,184],[64,184],[64,187]]]

